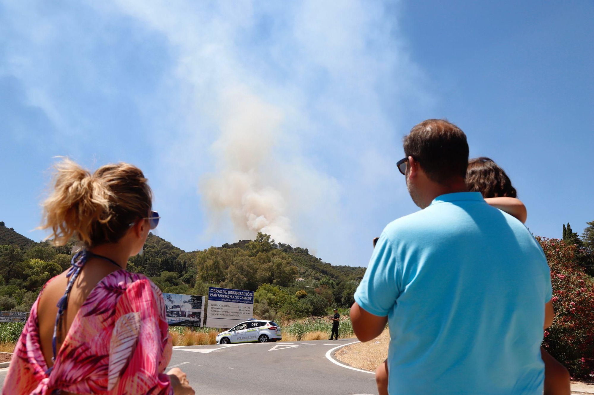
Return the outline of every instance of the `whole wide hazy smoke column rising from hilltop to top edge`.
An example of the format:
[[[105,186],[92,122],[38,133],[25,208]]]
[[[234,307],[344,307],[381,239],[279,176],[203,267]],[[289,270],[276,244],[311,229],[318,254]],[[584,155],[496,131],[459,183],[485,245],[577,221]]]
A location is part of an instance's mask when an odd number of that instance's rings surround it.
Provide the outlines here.
[[[362,0],[93,4],[108,16],[127,15],[138,34],[168,48],[173,67],[154,105],[169,103],[160,114],[167,132],[151,140],[169,191],[163,206],[182,206],[164,212],[183,224],[178,232],[220,245],[262,231],[328,262],[366,263],[369,242],[401,210],[394,197],[406,194],[393,174],[402,150],[397,123],[428,101],[400,42],[399,7]],[[194,185],[210,219],[206,231],[203,216],[179,210],[198,209],[188,205]]]

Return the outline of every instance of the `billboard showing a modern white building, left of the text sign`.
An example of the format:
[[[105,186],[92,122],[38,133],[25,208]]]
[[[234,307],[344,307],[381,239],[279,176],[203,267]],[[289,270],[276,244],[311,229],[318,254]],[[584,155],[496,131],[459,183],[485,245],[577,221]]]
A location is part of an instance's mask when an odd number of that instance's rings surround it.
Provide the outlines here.
[[[204,296],[163,293],[169,326],[201,327],[204,317]]]

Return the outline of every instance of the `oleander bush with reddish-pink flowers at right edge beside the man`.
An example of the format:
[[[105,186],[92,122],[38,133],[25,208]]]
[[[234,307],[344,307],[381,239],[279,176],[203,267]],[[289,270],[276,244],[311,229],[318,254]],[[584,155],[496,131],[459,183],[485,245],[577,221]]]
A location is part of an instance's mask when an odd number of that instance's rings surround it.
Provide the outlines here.
[[[551,267],[555,320],[542,345],[573,378],[594,378],[594,279],[577,263],[577,245],[536,237]]]

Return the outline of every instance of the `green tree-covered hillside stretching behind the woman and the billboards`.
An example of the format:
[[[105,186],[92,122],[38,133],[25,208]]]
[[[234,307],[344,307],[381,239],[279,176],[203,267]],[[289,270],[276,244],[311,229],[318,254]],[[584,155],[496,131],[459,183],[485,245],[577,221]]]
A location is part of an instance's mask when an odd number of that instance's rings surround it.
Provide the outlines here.
[[[0,311],[27,311],[41,287],[69,266],[71,249],[77,242],[72,239],[65,246],[53,247],[0,224]],[[130,258],[128,270],[146,274],[163,292],[206,295],[208,286],[264,287],[267,295],[282,292],[290,296],[283,302],[286,315],[292,315],[289,311],[293,310],[305,314],[331,305],[349,306],[356,282],[365,273],[364,267],[325,263],[307,248],[277,244],[263,233],[253,241],[191,252],[149,233],[143,253]],[[295,305],[296,300],[299,305]]]

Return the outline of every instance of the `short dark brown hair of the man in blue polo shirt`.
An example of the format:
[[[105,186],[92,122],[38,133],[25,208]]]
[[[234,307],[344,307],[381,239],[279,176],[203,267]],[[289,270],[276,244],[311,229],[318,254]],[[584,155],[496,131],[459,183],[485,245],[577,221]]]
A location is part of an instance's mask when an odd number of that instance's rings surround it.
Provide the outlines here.
[[[406,156],[417,160],[431,181],[447,184],[453,178],[466,178],[466,135],[445,119],[427,119],[410,129],[404,148]]]

